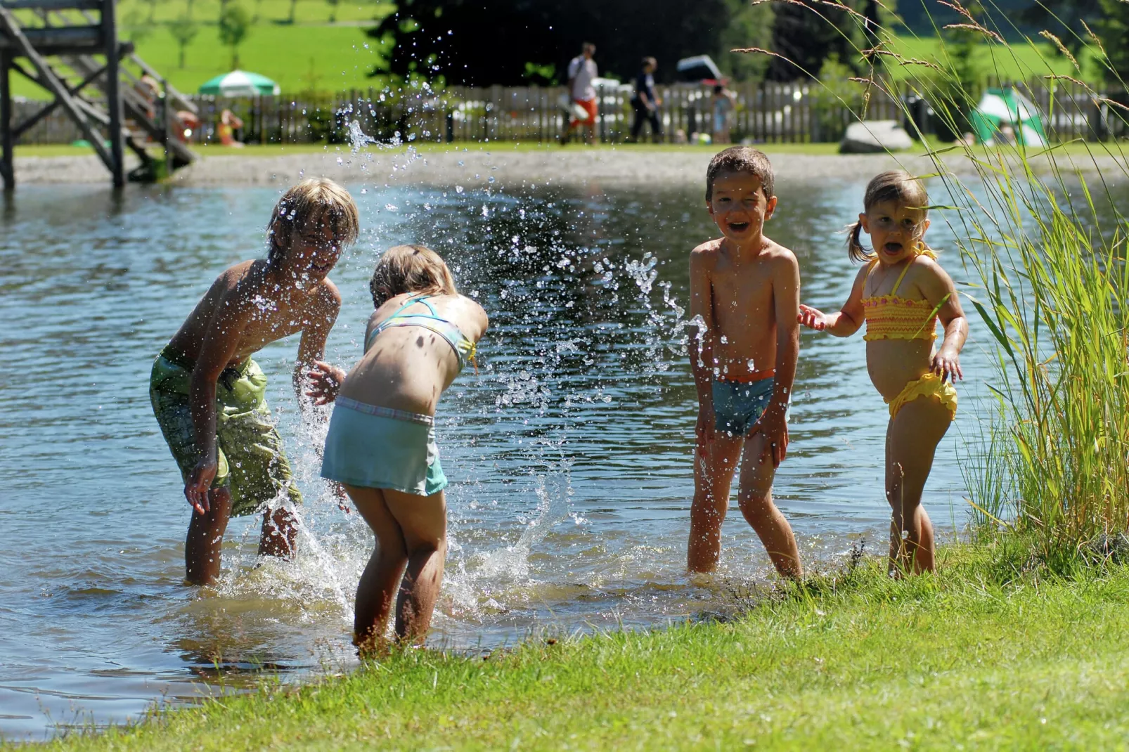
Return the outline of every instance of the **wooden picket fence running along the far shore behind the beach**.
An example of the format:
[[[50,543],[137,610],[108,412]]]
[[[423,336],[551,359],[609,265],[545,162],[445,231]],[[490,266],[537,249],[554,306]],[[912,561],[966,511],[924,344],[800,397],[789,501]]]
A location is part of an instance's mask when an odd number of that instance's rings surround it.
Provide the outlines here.
[[[1099,140],[1129,134],[1124,122],[1110,106],[1095,102],[1082,86],[1043,79],[1019,86],[1036,105],[1052,141]],[[735,108],[726,120],[732,141],[756,143],[838,141],[854,115],[816,82],[745,82],[730,86]],[[676,142],[695,133],[714,132],[712,91],[708,87],[658,87],[662,135]],[[865,117],[912,120],[925,133],[935,133],[937,119],[928,103],[908,93],[895,96],[874,90]],[[596,135],[616,143],[630,135],[634,113],[630,86],[606,86],[598,90]],[[238,133],[248,143],[379,141],[532,141],[559,139],[567,125],[566,93],[562,87],[448,87],[441,93],[414,89],[390,97],[375,89],[353,89],[335,95],[300,95],[225,99],[192,97],[200,107],[203,125],[191,141],[217,138],[216,124],[224,110],[238,115],[244,126]],[[16,102],[17,122],[41,106]],[[645,125],[644,138],[650,139]],[[81,138],[71,121],[55,112],[24,134],[21,143],[67,143]]]

